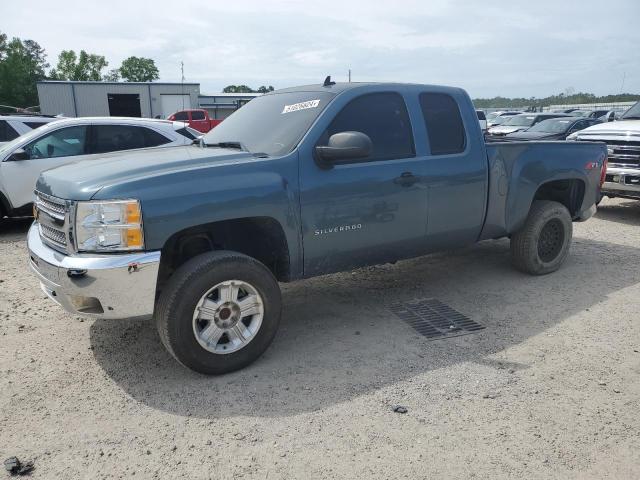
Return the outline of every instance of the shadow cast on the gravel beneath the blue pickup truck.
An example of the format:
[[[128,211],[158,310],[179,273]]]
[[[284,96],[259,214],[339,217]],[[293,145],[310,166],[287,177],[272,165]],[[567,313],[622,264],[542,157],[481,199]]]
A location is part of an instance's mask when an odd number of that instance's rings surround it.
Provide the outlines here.
[[[113,381],[152,408],[210,419],[290,416],[461,362],[504,368],[493,354],[638,283],[639,254],[576,238],[560,271],[532,277],[512,270],[502,240],[284,285],[284,314],[272,346],[253,365],[221,377],[179,365],[150,321],[99,320],[90,340]],[[387,309],[391,301],[425,297],[486,329],[427,341]]]

